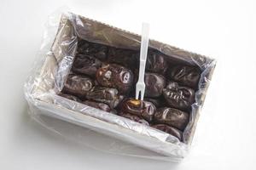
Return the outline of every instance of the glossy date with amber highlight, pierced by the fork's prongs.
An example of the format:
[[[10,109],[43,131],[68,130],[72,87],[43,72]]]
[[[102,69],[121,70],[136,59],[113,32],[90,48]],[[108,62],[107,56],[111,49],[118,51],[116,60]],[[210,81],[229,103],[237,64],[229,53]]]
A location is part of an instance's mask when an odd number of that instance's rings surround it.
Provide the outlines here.
[[[151,122],[154,116],[155,106],[148,101],[138,99],[126,99],[121,105],[122,111],[132,115],[141,116]]]

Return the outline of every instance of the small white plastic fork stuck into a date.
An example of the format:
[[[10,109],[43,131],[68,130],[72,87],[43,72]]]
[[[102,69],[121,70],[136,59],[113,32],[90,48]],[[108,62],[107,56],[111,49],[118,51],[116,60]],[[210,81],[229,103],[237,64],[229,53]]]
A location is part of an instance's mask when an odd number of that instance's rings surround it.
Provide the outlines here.
[[[144,99],[144,93],[145,93],[144,75],[145,75],[145,67],[146,67],[146,61],[147,61],[147,55],[148,55],[148,33],[149,33],[149,24],[143,23],[141,52],[140,52],[140,71],[139,71],[139,78],[136,84],[136,99],[138,99],[140,96],[140,100]]]

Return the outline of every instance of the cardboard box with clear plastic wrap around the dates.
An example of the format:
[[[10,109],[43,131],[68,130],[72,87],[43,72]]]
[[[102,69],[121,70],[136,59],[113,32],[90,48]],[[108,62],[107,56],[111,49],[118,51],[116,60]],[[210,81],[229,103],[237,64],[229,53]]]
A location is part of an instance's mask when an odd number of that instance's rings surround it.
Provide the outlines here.
[[[195,103],[192,105],[189,124],[183,131],[183,141],[181,142],[171,134],[154,127],[114,114],[106,114],[106,111],[58,95],[71,71],[79,38],[113,48],[139,50],[140,36],[73,13],[61,14],[61,21],[59,24],[57,23],[55,17],[50,18],[48,30],[44,34],[44,43],[38,55],[39,59],[25,83],[25,95],[31,115],[46,127],[49,126],[45,122],[47,118],[42,117],[55,117],[124,140],[134,148],[140,146],[158,153],[157,156],[147,156],[150,158],[180,161],[186,156],[216,61],[162,42],[149,41],[149,48],[164,54],[168,62],[194,65],[201,70],[199,86],[195,92]],[[56,35],[55,30],[57,30]],[[56,131],[68,138],[74,136],[68,135],[60,128]]]

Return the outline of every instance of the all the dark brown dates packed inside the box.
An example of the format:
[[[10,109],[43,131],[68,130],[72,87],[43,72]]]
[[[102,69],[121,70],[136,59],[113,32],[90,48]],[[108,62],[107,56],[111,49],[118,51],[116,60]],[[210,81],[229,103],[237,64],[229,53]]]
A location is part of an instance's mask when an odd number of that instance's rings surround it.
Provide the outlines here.
[[[139,51],[79,40],[61,96],[170,133],[183,141],[201,70],[149,49],[145,99],[134,99]]]

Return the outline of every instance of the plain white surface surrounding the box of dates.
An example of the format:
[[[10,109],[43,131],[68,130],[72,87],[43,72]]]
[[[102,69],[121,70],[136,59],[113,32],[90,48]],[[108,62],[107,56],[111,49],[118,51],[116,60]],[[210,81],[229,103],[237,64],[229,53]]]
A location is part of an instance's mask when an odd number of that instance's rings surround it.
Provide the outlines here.
[[[44,23],[77,13],[218,59],[189,156],[179,164],[109,155],[56,136],[27,114],[23,83]],[[252,1],[0,1],[0,169],[256,169],[256,5]],[[88,136],[90,138],[90,136]]]

